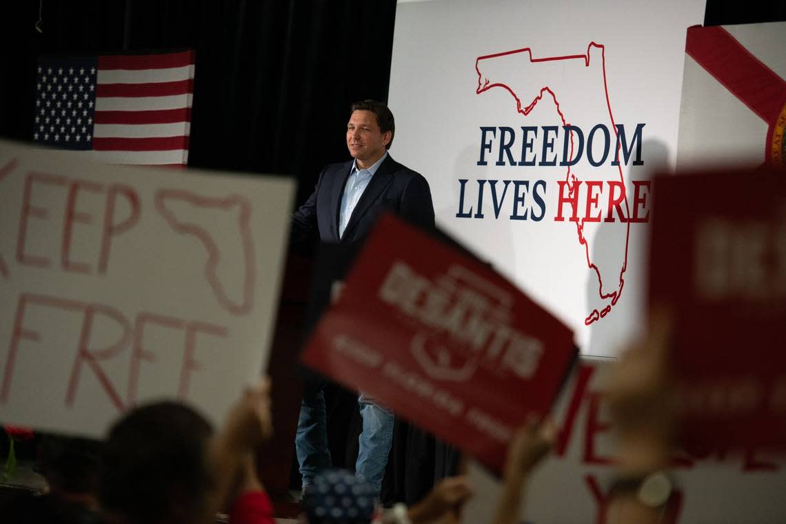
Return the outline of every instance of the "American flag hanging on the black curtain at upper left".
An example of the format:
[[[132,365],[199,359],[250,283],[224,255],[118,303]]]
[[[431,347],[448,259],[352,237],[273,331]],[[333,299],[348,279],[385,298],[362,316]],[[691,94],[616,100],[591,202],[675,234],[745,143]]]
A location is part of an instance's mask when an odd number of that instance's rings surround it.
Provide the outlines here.
[[[40,57],[33,141],[106,163],[188,163],[194,53]]]

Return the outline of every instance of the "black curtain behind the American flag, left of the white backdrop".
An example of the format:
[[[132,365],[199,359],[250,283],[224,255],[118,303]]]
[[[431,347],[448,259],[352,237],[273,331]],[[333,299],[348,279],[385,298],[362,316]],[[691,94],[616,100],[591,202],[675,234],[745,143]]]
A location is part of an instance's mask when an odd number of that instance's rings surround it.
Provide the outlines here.
[[[395,0],[43,0],[4,6],[0,136],[28,141],[39,53],[196,49],[189,166],[288,174],[347,157],[349,104],[387,100]]]

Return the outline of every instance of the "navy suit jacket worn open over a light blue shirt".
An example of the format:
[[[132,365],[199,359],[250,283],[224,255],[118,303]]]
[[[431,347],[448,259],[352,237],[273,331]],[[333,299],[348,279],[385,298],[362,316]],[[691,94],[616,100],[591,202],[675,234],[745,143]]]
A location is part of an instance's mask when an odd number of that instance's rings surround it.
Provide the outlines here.
[[[332,163],[322,170],[314,192],[292,216],[292,242],[360,242],[386,210],[415,225],[434,227],[434,204],[428,181],[388,154],[371,177],[339,239],[341,199],[352,162]]]

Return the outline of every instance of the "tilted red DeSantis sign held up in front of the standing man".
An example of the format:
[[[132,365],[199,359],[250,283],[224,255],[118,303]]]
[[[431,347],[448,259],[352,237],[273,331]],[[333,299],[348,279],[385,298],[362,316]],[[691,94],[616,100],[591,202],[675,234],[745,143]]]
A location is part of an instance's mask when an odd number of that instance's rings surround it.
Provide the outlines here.
[[[501,471],[575,356],[571,330],[507,280],[385,215],[303,361]]]

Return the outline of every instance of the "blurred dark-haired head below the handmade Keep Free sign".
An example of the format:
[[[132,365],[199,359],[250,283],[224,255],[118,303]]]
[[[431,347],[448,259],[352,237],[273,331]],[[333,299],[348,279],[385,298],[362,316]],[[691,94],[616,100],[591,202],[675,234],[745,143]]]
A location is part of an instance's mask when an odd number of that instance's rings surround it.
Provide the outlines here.
[[[174,522],[174,515],[195,521],[211,488],[212,433],[199,413],[176,402],[128,412],[109,431],[101,453],[102,510],[130,522]]]

